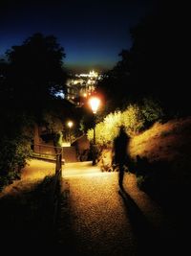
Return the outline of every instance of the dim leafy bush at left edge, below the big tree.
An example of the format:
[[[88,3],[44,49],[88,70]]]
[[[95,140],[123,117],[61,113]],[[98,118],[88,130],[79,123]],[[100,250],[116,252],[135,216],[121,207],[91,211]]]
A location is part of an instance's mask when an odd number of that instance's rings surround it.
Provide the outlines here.
[[[2,117],[0,137],[1,189],[20,177],[21,169],[31,156],[32,120],[25,115]]]

